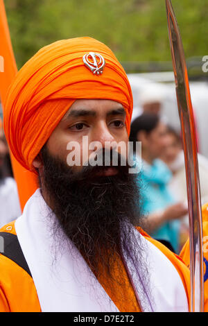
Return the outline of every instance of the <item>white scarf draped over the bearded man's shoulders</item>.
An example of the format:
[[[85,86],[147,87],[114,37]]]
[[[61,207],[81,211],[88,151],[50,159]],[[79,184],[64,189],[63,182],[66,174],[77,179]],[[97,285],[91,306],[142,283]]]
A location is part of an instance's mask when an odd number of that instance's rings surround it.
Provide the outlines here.
[[[59,230],[62,248],[55,246],[51,234],[54,214],[46,205],[40,189],[26,203],[15,222],[21,250],[30,268],[42,311],[117,312],[114,302],[89,270],[76,248],[69,250],[66,236]],[[49,218],[50,214],[50,218]],[[51,227],[52,225],[52,227]],[[123,248],[123,258],[143,311],[188,311],[187,295],[175,267],[166,256],[135,230],[145,248],[149,289],[144,291],[134,261]],[[72,245],[73,246],[73,245]],[[73,246],[74,247],[74,246]],[[75,257],[76,256],[76,257]],[[148,293],[151,293],[151,298]]]

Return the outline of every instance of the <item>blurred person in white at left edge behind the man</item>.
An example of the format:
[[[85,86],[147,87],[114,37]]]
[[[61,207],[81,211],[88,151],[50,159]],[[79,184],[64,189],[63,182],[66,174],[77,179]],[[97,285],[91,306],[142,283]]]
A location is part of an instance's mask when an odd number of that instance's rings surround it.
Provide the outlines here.
[[[12,178],[10,155],[0,119],[0,228],[21,215],[17,185]]]

